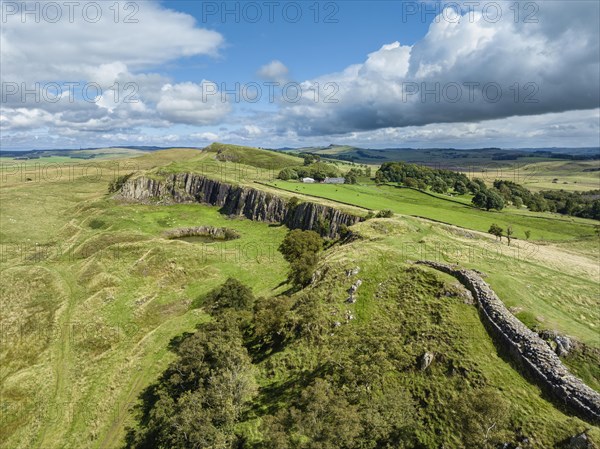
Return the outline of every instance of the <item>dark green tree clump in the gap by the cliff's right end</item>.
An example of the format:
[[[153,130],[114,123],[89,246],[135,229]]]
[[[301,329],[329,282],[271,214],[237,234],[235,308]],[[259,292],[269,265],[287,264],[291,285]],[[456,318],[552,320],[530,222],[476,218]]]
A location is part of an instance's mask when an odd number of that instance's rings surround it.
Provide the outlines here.
[[[290,264],[288,279],[296,288],[310,282],[323,249],[323,239],[315,231],[294,229],[285,236],[279,251]]]

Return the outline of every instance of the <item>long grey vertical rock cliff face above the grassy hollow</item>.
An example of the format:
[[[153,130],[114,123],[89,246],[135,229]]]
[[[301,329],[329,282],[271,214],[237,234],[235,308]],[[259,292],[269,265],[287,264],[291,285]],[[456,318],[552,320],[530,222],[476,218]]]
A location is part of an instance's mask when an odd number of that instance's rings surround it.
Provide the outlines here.
[[[301,203],[290,209],[287,201],[278,196],[190,173],[170,175],[164,181],[144,177],[129,179],[119,195],[136,201],[210,204],[219,206],[223,214],[283,223],[290,229],[313,230],[332,238],[339,234],[342,225],[351,226],[360,221],[360,217],[315,203]]]

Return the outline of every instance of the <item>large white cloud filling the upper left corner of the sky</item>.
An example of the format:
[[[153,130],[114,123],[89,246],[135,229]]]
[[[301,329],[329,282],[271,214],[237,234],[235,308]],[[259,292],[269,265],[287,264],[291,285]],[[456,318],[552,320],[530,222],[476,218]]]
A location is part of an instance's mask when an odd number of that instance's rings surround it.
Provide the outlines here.
[[[24,2],[14,3],[23,6]],[[158,2],[132,2],[139,8],[131,17],[137,23],[124,23],[123,11],[115,20],[117,4],[100,3],[102,17],[97,23],[86,20],[81,10],[69,23],[66,7],[57,23],[43,19],[38,23],[33,16],[25,20],[20,15],[7,17],[0,31],[3,78],[110,83],[127,71],[146,70],[185,56],[216,55],[223,44],[219,33],[196,27],[192,16]],[[31,9],[36,4],[39,7],[40,2],[26,6]],[[123,8],[123,3],[118,7]]]

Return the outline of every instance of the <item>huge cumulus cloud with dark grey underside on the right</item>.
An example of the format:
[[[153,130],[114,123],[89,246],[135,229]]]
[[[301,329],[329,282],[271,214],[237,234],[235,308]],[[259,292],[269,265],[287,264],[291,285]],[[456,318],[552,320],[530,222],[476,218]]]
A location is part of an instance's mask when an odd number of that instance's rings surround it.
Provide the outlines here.
[[[307,81],[334,83],[334,97],[284,103],[278,131],[332,135],[597,108],[599,31],[580,17],[597,17],[599,4],[583,3],[545,2],[538,23],[446,14],[412,46],[383,45],[362,64]],[[560,14],[571,8],[579,11]]]

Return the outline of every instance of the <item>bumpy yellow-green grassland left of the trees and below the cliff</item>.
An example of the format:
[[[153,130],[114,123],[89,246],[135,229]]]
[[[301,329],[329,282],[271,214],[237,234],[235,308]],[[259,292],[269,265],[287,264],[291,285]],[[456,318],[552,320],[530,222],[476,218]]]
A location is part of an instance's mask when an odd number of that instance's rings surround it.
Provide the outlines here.
[[[166,153],[132,163],[189,156]],[[114,172],[104,168],[98,179],[2,186],[2,447],[115,447],[130,405],[171,359],[169,340],[206,319],[188,310],[193,298],[229,276],[263,295],[284,279],[276,251],[284,228],[200,205],[117,204],[106,198]],[[160,237],[201,224],[242,238]]]

